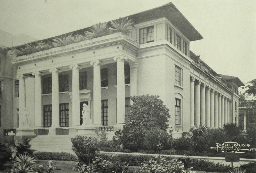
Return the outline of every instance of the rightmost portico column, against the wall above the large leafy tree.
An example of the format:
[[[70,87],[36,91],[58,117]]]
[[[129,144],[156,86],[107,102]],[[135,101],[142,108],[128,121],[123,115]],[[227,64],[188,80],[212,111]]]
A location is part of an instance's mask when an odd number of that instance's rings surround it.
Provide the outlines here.
[[[138,96],[138,63],[130,62],[130,96]],[[131,100],[132,105],[132,100]]]

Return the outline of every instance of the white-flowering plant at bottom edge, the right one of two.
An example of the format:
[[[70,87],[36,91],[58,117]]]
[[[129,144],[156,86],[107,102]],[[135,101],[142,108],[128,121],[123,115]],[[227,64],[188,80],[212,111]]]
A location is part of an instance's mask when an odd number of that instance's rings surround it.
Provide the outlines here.
[[[148,162],[141,163],[138,173],[196,173],[190,169],[185,170],[184,164],[177,159],[166,160],[164,157],[156,156]]]

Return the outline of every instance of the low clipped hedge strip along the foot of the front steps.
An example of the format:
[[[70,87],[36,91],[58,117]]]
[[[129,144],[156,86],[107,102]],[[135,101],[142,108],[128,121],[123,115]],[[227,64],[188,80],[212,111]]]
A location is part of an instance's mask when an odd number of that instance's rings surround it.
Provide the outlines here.
[[[75,155],[67,152],[35,152],[34,155],[38,160],[77,161]]]

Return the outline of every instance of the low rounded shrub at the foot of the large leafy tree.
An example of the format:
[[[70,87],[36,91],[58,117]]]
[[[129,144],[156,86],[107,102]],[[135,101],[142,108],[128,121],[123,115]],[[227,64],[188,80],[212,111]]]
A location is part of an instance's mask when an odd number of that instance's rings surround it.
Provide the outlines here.
[[[160,150],[169,147],[169,134],[159,129],[152,127],[145,134],[143,140],[143,148],[146,150]]]

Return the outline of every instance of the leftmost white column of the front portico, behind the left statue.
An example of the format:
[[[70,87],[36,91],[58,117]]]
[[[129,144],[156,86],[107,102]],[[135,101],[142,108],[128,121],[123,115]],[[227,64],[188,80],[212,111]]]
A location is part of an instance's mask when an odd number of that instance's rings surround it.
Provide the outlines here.
[[[17,75],[19,78],[19,124],[20,128],[22,128],[22,118],[24,115],[24,109],[26,107],[26,98],[25,98],[25,76]]]

